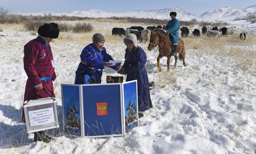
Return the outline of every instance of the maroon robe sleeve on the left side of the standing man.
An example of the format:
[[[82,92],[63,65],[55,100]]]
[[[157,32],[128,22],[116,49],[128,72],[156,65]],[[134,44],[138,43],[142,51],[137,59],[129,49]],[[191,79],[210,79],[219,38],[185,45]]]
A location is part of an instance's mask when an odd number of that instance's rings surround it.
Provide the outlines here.
[[[34,68],[38,52],[39,50],[32,43],[24,46],[24,70],[28,79],[32,81],[34,87],[42,83]]]

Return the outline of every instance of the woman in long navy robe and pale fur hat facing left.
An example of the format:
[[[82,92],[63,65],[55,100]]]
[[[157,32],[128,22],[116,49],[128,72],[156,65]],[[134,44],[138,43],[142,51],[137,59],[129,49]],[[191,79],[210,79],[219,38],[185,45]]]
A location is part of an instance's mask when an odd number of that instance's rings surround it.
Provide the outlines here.
[[[126,81],[137,80],[139,116],[143,116],[141,112],[153,107],[149,93],[148,73],[145,68],[147,55],[141,47],[137,46],[135,34],[129,33],[124,38],[124,43],[127,46],[125,61],[117,73],[127,74]]]

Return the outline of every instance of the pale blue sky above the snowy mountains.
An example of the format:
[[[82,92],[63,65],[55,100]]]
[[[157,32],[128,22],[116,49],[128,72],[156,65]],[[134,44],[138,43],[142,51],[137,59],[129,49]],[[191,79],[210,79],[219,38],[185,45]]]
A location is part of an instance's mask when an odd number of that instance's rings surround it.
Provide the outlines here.
[[[90,9],[117,13],[180,7],[187,13],[200,15],[219,7],[243,9],[252,5],[256,5],[256,0],[0,0],[0,7],[23,13]]]

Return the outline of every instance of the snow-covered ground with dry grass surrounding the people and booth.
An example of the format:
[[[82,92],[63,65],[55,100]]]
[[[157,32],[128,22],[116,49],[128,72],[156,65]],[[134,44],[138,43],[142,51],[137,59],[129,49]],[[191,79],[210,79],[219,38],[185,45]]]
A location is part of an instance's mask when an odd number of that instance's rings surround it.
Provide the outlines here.
[[[92,33],[60,33],[60,38],[51,43],[57,74],[54,90],[60,115],[61,84],[74,83],[75,71],[80,62],[79,55],[83,47],[91,42],[92,35],[103,33],[107,52],[114,59],[124,60],[125,45],[122,38],[111,36],[111,29],[135,25],[90,22],[94,26]],[[23,69],[23,46],[36,36],[32,36],[31,32],[25,31],[20,25],[1,25],[0,153],[256,153],[256,25],[233,24],[235,33],[228,38],[207,41],[201,36],[198,39],[185,39],[185,60],[188,66],[183,67],[182,62],[178,61],[177,68],[170,72],[166,72],[166,58],[161,60],[163,71],[158,72],[158,54],[149,52],[148,44],[139,43],[147,53],[149,81],[155,81],[155,87],[150,90],[153,108],[139,119],[139,127],[126,136],[73,138],[58,129],[54,131],[55,137],[50,143],[35,143],[34,135],[27,134],[25,124],[20,122],[27,80]],[[241,41],[239,32],[245,28],[251,31],[248,40]],[[247,54],[248,56],[244,56]],[[172,57],[171,67],[173,65]],[[107,75],[120,74],[105,68],[103,83],[106,83]]]

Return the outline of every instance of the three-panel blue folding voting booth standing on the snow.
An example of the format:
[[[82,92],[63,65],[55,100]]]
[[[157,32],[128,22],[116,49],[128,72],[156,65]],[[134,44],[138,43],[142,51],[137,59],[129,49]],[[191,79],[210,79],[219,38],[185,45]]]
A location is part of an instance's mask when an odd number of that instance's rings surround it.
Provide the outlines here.
[[[61,84],[64,130],[81,137],[123,136],[138,126],[137,80]]]

